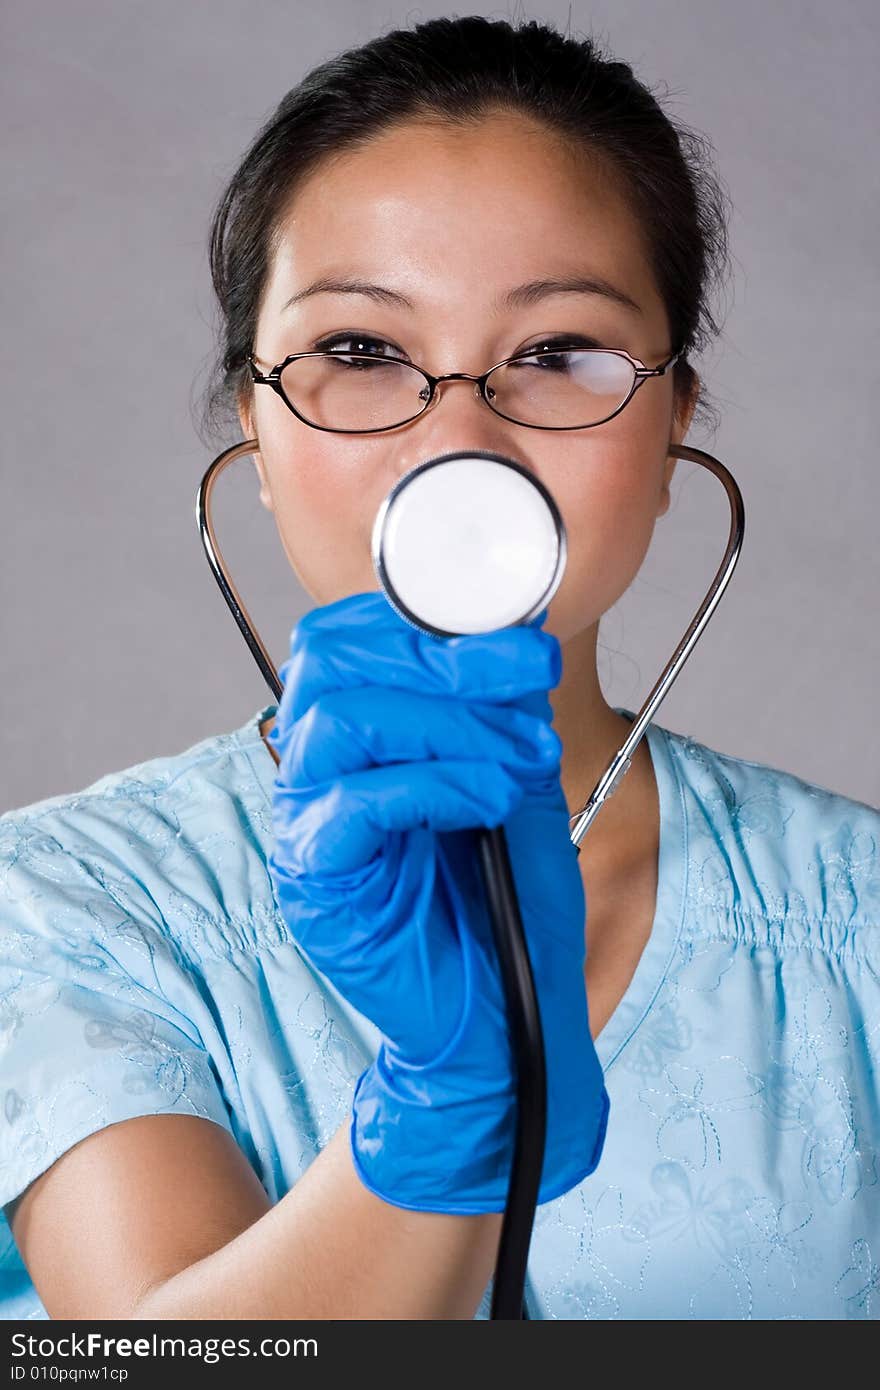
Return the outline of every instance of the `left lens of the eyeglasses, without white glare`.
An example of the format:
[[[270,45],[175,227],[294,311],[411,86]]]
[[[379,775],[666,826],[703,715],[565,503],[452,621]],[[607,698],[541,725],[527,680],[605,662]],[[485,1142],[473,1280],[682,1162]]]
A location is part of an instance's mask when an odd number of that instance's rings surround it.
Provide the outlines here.
[[[428,393],[407,363],[353,353],[298,357],[281,385],[300,416],[325,430],[391,430],[420,414]]]

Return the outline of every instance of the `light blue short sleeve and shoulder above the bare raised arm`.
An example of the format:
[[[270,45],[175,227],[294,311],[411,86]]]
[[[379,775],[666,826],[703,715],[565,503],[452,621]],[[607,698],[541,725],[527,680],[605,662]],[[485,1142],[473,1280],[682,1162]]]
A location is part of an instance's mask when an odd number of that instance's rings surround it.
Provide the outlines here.
[[[225,959],[239,919],[272,916],[252,739],[256,721],[0,816],[0,1205],[124,1119],[232,1130]]]

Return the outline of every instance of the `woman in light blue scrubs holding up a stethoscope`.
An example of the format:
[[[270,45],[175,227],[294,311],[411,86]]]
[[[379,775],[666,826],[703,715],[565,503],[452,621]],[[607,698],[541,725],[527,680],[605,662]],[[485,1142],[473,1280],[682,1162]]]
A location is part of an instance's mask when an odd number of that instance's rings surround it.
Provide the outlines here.
[[[499,823],[548,1036],[530,1316],[876,1316],[880,815],[652,726],[567,838],[627,730],[599,620],[705,411],[724,254],[698,142],[544,25],[386,35],[260,132],[213,225],[209,414],[259,442],[316,607],[278,708],[0,819],[7,1316],[487,1316],[512,1074],[459,851]],[[336,385],[516,357],[546,392],[584,349],[649,375],[555,431],[468,381],[409,418]],[[464,448],[546,484],[569,563],[535,624],[439,642],[370,530]]]

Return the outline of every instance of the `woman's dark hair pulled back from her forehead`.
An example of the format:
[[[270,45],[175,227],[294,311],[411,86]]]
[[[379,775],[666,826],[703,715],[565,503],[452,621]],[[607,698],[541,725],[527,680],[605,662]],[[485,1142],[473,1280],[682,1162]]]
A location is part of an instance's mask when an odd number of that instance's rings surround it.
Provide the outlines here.
[[[677,398],[692,393],[687,356],[720,334],[708,296],[727,271],[728,199],[708,139],[674,125],[633,70],[602,57],[592,38],[534,19],[512,26],[467,15],[395,29],[329,58],[257,133],[211,221],[221,343],[202,398],[203,438],[220,441],[228,424],[241,436],[236,404],[253,391],[245,359],[279,224],[304,177],[407,118],[456,125],[498,108],[542,121],[610,165],[642,228],[671,345],[684,348],[673,368]],[[717,428],[706,396],[701,382],[694,418]]]

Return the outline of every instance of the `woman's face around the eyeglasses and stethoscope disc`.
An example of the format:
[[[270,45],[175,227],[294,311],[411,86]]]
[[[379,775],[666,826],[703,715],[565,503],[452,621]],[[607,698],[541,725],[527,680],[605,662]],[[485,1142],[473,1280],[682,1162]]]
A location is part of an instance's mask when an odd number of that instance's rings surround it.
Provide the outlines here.
[[[638,309],[581,291],[496,307],[516,286],[563,277],[603,279]],[[391,295],[320,292],[285,307],[324,278]],[[406,356],[435,375],[482,373],[551,334],[623,348],[646,367],[673,349],[638,224],[609,179],[509,114],[456,129],[409,122],[325,160],[299,186],[260,306],[257,367],[268,371],[345,331],[380,339],[386,346],[371,352]],[[274,391],[254,386],[242,428],[260,442],[260,496],[293,570],[318,605],[378,589],[370,539],[393,484],[434,455],[494,450],[532,471],[562,512],[567,566],[545,630],[566,642],[624,594],[669,506],[667,443],[683,439],[691,414],[674,417],[671,371],[589,430],[502,420],[473,382],[443,382],[438,393],[407,425],[345,435],[310,428]]]

